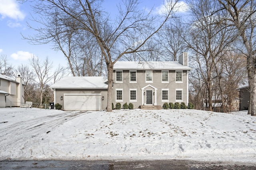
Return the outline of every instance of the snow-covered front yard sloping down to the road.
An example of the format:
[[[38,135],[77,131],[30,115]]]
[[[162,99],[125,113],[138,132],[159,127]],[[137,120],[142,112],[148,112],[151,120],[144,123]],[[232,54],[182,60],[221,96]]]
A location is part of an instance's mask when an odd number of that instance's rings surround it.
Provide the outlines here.
[[[256,117],[198,110],[0,108],[0,160],[256,162]]]

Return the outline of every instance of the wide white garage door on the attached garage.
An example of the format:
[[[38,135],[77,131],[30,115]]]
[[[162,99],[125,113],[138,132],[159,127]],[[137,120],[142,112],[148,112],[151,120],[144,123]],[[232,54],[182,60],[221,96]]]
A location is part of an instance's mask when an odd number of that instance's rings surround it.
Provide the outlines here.
[[[100,94],[64,94],[65,111],[99,111]]]

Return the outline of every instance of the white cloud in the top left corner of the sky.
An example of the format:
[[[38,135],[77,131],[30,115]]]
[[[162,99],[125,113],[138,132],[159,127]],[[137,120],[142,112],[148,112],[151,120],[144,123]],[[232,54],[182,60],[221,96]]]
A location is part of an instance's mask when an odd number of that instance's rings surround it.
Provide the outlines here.
[[[16,0],[0,0],[0,15],[2,18],[9,17],[16,20],[23,20],[25,14],[20,11]]]

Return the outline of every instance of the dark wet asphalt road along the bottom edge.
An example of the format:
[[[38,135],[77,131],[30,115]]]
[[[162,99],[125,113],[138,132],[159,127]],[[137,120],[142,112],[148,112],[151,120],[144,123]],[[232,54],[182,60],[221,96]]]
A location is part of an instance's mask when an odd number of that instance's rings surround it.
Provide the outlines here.
[[[199,162],[191,160],[137,161],[0,161],[1,170],[255,170],[256,163]]]

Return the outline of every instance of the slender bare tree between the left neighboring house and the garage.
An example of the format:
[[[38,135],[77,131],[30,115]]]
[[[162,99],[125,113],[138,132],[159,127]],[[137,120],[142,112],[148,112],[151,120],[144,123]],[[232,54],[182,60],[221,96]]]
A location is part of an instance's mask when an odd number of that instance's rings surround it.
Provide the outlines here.
[[[38,78],[35,81],[39,85],[40,105],[42,105],[44,88],[46,84],[53,78],[53,75],[51,75],[51,69],[53,68],[53,65],[52,62],[49,61],[48,57],[46,57],[44,61],[40,61],[38,57],[33,56],[29,61]]]

